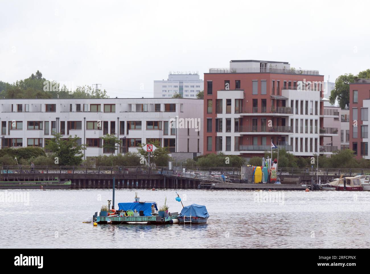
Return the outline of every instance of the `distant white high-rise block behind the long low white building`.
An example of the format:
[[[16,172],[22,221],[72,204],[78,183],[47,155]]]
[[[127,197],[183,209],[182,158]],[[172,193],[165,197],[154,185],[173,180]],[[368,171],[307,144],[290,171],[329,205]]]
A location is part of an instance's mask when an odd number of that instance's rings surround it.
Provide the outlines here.
[[[198,72],[173,72],[168,74],[167,80],[154,81],[154,98],[168,98],[175,93],[181,94],[183,98],[196,98],[196,94],[202,90],[203,80],[199,79]]]

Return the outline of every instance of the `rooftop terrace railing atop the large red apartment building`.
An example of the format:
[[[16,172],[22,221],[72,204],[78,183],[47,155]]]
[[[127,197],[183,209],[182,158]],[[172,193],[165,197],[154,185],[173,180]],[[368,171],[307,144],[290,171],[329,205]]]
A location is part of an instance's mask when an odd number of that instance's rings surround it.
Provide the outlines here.
[[[209,73],[284,73],[302,75],[320,75],[318,70],[295,70],[293,68],[252,67],[252,68],[210,68]]]

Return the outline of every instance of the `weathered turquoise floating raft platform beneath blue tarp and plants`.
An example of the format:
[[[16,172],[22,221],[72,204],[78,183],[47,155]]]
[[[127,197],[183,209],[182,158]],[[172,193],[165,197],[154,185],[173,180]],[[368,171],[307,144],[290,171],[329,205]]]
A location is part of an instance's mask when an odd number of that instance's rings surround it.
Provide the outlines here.
[[[159,215],[154,216],[97,216],[96,222],[98,224],[107,224],[107,220],[111,220],[112,224],[128,224],[128,223],[149,223],[149,224],[170,224],[172,220],[178,219],[178,213],[169,213],[168,217],[161,217]]]

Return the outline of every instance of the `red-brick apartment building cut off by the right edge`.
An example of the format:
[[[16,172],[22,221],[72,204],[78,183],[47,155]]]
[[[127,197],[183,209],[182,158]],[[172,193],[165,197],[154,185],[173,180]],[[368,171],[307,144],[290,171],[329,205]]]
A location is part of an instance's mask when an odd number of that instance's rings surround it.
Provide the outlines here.
[[[359,78],[350,83],[350,148],[356,158],[370,159],[369,157],[369,107],[370,107],[370,79]]]

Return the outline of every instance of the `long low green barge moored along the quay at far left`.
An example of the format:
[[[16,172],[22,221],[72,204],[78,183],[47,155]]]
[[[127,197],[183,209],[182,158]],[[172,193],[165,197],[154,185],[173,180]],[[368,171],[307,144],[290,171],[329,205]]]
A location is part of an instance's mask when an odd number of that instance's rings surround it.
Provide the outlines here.
[[[71,184],[71,180],[60,180],[58,178],[49,181],[0,181],[0,188],[71,188]]]

